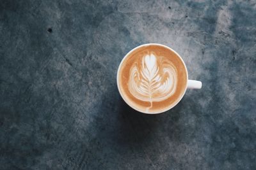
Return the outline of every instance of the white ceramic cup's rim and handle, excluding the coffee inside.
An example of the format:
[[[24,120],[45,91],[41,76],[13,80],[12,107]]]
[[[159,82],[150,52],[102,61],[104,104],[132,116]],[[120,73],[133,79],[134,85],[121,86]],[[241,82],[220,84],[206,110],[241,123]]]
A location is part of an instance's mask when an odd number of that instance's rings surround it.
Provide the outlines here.
[[[201,81],[196,81],[196,80],[188,80],[188,69],[186,67],[186,64],[184,62],[184,60],[180,57],[179,53],[175,52],[172,48],[168,47],[168,46],[165,46],[165,45],[161,45],[161,44],[157,44],[157,43],[148,43],[148,44],[144,44],[144,45],[140,45],[140,46],[137,46],[135,48],[133,48],[129,53],[127,53],[124,57],[124,59],[122,59],[122,61],[120,62],[120,65],[118,67],[118,71],[117,71],[117,74],[116,74],[116,83],[117,83],[117,87],[118,87],[118,91],[120,93],[120,95],[122,96],[122,98],[124,99],[125,103],[127,103],[131,108],[133,108],[134,110],[136,111],[140,111],[141,113],[148,113],[148,112],[145,112],[145,111],[141,111],[141,110],[137,110],[136,108],[134,108],[131,104],[129,104],[129,102],[127,101],[127,99],[125,99],[124,95],[122,94],[122,92],[120,91],[120,87],[119,87],[119,80],[118,80],[118,77],[119,77],[119,74],[120,74],[120,68],[124,62],[124,60],[129,57],[129,55],[134,51],[136,50],[137,48],[141,48],[142,46],[148,46],[148,45],[157,45],[157,46],[163,46],[165,48],[168,48],[171,52],[175,53],[179,58],[180,60],[184,63],[184,66],[185,66],[185,69],[186,69],[186,76],[187,76],[187,88],[186,89],[201,89],[202,88],[202,82]],[[182,97],[184,96],[185,92],[186,92],[186,89],[184,90],[183,94],[182,94]],[[177,101],[175,104],[172,104],[172,106],[166,108],[165,110],[161,110],[161,111],[157,111],[157,112],[150,112],[148,114],[157,114],[157,113],[163,113],[164,111],[168,111],[170,109],[172,109],[174,106],[176,106],[180,100],[182,99],[182,97],[180,97],[179,101]]]

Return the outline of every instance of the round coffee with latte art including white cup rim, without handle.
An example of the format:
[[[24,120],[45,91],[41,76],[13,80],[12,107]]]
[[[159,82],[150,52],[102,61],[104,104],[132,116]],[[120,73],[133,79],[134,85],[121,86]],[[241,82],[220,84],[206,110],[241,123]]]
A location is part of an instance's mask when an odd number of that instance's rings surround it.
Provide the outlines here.
[[[118,71],[118,88],[132,108],[166,111],[184,95],[188,81],[179,55],[162,45],[143,45],[127,54]]]

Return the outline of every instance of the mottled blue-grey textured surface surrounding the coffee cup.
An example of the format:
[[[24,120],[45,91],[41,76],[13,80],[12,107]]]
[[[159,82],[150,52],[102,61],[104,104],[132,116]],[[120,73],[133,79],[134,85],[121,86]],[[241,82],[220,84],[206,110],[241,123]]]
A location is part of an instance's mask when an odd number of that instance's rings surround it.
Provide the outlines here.
[[[0,2],[0,169],[256,169],[256,1]],[[143,43],[202,89],[129,108],[116,70]]]

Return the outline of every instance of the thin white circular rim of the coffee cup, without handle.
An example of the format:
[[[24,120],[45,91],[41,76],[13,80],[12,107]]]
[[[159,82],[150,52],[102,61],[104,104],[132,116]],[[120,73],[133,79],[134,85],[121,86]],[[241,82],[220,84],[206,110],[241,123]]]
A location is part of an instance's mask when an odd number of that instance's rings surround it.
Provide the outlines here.
[[[186,89],[184,90],[182,96],[180,97],[179,100],[177,100],[177,102],[175,104],[173,104],[173,106],[170,106],[170,107],[167,107],[165,108],[164,110],[161,110],[161,111],[156,111],[156,112],[147,112],[147,111],[142,111],[142,110],[138,110],[137,108],[133,107],[124,97],[124,95],[122,94],[121,90],[120,90],[120,87],[119,87],[119,83],[118,83],[118,80],[119,80],[119,73],[120,73],[120,69],[121,69],[121,66],[124,62],[124,60],[129,56],[129,54],[131,54],[132,52],[134,52],[134,50],[138,49],[138,48],[141,48],[142,46],[148,46],[148,45],[157,45],[157,46],[163,46],[164,48],[168,48],[168,50],[171,50],[173,53],[175,53],[179,59],[182,61],[182,63],[184,64],[185,66],[185,69],[186,69],[186,76],[187,76],[187,81],[186,81]],[[143,44],[143,45],[139,45],[139,46],[136,46],[135,48],[132,48],[132,50],[130,50],[125,56],[124,58],[121,60],[119,66],[118,66],[118,70],[117,70],[117,73],[116,73],[116,85],[117,85],[117,88],[118,88],[118,92],[120,94],[120,96],[122,97],[122,99],[125,101],[126,104],[128,104],[128,106],[130,106],[132,109],[136,110],[136,111],[139,111],[140,113],[145,113],[145,114],[148,114],[148,115],[155,115],[155,114],[159,114],[159,113],[164,113],[165,111],[168,111],[168,110],[171,110],[173,107],[175,107],[180,101],[181,99],[184,97],[184,94],[186,93],[186,90],[188,89],[188,69],[187,69],[187,66],[184,62],[184,60],[182,59],[182,57],[180,57],[179,53],[175,52],[175,50],[173,50],[172,48],[170,48],[169,46],[166,46],[166,45],[162,45],[162,44],[159,44],[159,43],[146,43],[146,44]]]

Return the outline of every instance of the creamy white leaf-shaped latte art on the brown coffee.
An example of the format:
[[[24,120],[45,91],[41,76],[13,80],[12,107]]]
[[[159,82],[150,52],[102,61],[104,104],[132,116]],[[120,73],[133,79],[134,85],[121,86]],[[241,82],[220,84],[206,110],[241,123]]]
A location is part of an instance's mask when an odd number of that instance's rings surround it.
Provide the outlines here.
[[[176,69],[168,60],[157,61],[153,54],[146,55],[136,62],[130,70],[129,91],[141,101],[163,101],[176,90]]]

